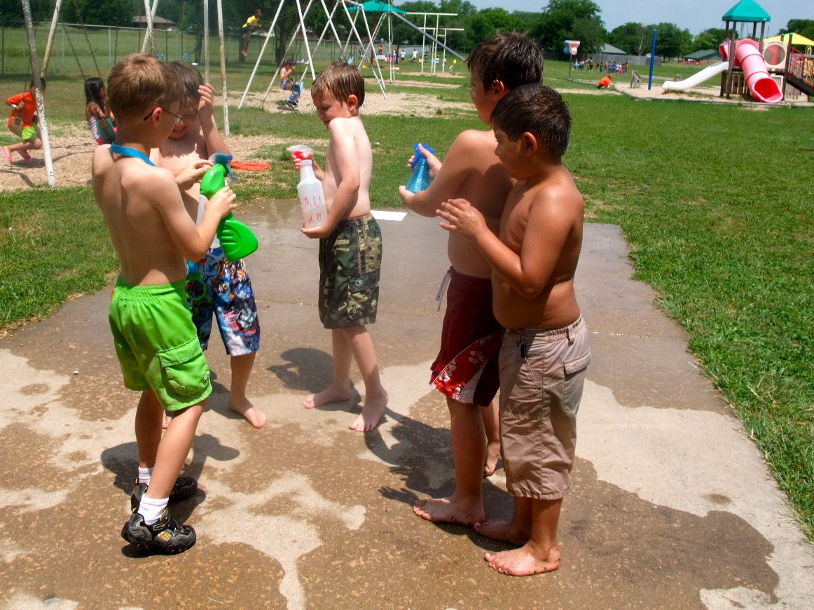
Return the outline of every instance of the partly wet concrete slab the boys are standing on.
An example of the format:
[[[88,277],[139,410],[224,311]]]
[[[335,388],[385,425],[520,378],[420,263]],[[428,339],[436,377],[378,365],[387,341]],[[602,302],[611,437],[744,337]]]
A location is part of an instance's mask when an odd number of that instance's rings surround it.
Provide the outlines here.
[[[453,476],[444,400],[427,386],[443,230],[412,214],[381,222],[371,329],[392,403],[359,434],[356,401],[300,406],[330,379],[316,243],[291,203],[266,208],[244,219],[261,243],[250,391],[269,424],[226,409],[213,338],[216,390],[186,469],[201,490],[174,509],[198,532],[182,556],[143,556],[119,535],[137,397],[121,387],[109,289],[0,341],[0,608],[814,608],[812,546],[681,328],[632,281],[618,228],[586,225],[578,273],[593,362],[562,567],[515,578],[482,559],[505,545],[410,509]],[[502,470],[484,489],[489,516],[510,516]]]

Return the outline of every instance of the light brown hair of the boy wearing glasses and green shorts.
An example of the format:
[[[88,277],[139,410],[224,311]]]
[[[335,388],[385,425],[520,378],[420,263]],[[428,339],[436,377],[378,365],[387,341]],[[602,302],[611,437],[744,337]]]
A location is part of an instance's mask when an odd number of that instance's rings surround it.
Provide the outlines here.
[[[107,103],[116,120],[142,118],[151,108],[168,106],[184,94],[168,64],[146,53],[132,53],[113,66],[107,78]]]

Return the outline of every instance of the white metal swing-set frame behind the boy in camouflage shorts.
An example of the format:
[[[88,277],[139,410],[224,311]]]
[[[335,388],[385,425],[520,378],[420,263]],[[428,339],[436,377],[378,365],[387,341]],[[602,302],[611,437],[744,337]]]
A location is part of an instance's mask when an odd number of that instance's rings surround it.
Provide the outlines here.
[[[147,1],[147,0],[145,0]],[[377,85],[379,85],[379,90],[382,92],[382,95],[385,99],[387,99],[387,90],[385,87],[385,80],[382,73],[382,66],[379,63],[380,59],[384,60],[386,56],[379,55],[375,52],[375,40],[376,36],[382,28],[385,20],[383,17],[387,16],[387,31],[388,31],[388,47],[392,49],[392,24],[391,19],[392,17],[396,17],[397,19],[401,20],[405,24],[409,25],[409,27],[418,30],[419,33],[422,34],[422,41],[425,39],[429,39],[433,43],[433,50],[436,50],[439,46],[444,49],[444,59],[446,57],[446,52],[449,51],[450,54],[453,54],[457,59],[461,59],[462,61],[464,58],[457,54],[454,50],[450,49],[449,46],[446,46],[443,41],[440,40],[440,30],[444,29],[444,34],[441,35],[446,37],[446,31],[457,29],[457,28],[441,28],[440,27],[440,16],[444,15],[451,15],[456,16],[456,13],[416,13],[416,15],[424,15],[424,27],[419,27],[418,25],[414,24],[412,21],[407,19],[404,15],[413,15],[413,13],[405,13],[405,11],[401,11],[399,8],[392,6],[392,0],[390,2],[382,2],[381,0],[370,0],[369,2],[359,3],[355,2],[355,0],[335,0],[334,7],[329,11],[326,5],[325,0],[319,0],[320,5],[322,6],[322,11],[324,11],[326,16],[326,24],[325,27],[322,28],[322,33],[320,33],[319,38],[317,39],[317,43],[313,48],[311,48],[311,41],[309,41],[308,37],[308,29],[305,27],[305,17],[309,14],[309,11],[312,9],[313,5],[316,3],[315,0],[309,0],[309,2],[303,8],[302,0],[289,0],[296,3],[297,7],[297,15],[300,20],[300,24],[297,25],[295,28],[294,34],[291,36],[291,40],[288,42],[286,46],[285,53],[283,56],[287,56],[289,50],[294,45],[295,41],[297,41],[298,37],[303,42],[305,48],[306,57],[304,60],[300,60],[298,63],[304,63],[305,68],[304,72],[307,74],[310,72],[311,80],[313,81],[316,78],[316,73],[314,72],[313,68],[313,54],[316,53],[319,46],[322,44],[323,41],[326,39],[326,33],[330,28],[330,32],[333,34],[334,40],[339,43],[339,59],[343,59],[344,61],[348,61],[348,63],[356,63],[357,67],[361,69],[365,59],[370,58],[370,68],[373,71],[374,78],[376,80]],[[255,63],[255,67],[252,70],[252,75],[249,76],[249,80],[246,84],[246,89],[243,91],[243,97],[240,98],[240,102],[238,104],[238,108],[243,108],[244,104],[246,103],[246,99],[248,97],[249,91],[252,89],[252,83],[254,82],[257,70],[260,68],[260,63],[263,60],[265,55],[265,50],[269,45],[269,38],[274,33],[274,25],[277,24],[278,17],[280,15],[280,11],[282,11],[282,7],[286,0],[282,0],[277,8],[277,12],[274,14],[274,19],[272,20],[271,25],[269,26],[268,32],[266,33],[265,40],[263,41],[263,45],[260,47],[260,52],[257,54],[257,59]],[[340,8],[341,7],[341,8]],[[339,33],[336,29],[335,24],[335,15],[337,11],[340,11],[342,15],[344,15],[345,20],[347,20],[348,25],[348,37],[343,42],[339,38]],[[370,24],[368,24],[368,20],[366,18],[367,14],[379,15],[379,19],[374,24],[374,28],[371,31]],[[359,32],[357,27],[357,20],[359,15],[362,16],[362,23],[364,24],[366,36],[363,37]],[[427,15],[434,15],[436,17],[436,24],[433,28],[432,26],[427,26]],[[433,33],[430,33],[430,32]],[[352,40],[354,41],[352,47]],[[350,54],[350,49],[353,48],[354,54]],[[355,53],[358,53],[358,57]],[[390,69],[390,80],[392,81],[395,78],[395,68],[396,66],[393,65],[393,62],[389,68]],[[277,69],[274,71],[274,74],[269,81],[269,86],[265,89],[265,94],[263,95],[263,99],[261,101],[261,105],[265,106],[265,102],[269,97],[269,93],[271,89],[274,87],[274,83],[278,79],[278,75],[280,72],[280,68],[282,68],[282,63],[279,63]],[[422,65],[422,72],[423,72],[423,65]],[[304,81],[304,76],[302,75],[297,78],[298,81]]]

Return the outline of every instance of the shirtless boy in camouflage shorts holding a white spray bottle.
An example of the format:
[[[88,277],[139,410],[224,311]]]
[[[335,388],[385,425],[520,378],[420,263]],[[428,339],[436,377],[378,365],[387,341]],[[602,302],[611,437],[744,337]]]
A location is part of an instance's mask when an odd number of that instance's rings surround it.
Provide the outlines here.
[[[322,181],[328,218],[324,224],[301,230],[319,238],[319,318],[331,331],[334,377],[326,390],[310,394],[303,404],[310,409],[350,399],[353,358],[365,382],[365,404],[348,427],[367,432],[379,425],[387,391],[365,328],[376,320],[382,265],[382,232],[370,214],[373,150],[359,117],[365,81],[356,68],[334,62],[313,81],[311,97],[329,134],[325,170],[312,153],[305,156]],[[300,159],[294,163],[299,169]]]

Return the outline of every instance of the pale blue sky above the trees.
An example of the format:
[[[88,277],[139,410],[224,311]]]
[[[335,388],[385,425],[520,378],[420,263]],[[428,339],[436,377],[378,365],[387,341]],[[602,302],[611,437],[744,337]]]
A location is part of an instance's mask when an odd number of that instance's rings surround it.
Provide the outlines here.
[[[469,0],[475,7],[502,7],[506,11],[541,11],[548,0]],[[634,21],[640,24],[667,22],[697,34],[707,28],[723,28],[720,20],[738,0],[593,0],[602,8],[608,30]],[[756,0],[772,15],[766,24],[767,36],[785,28],[790,19],[814,20],[812,0]],[[759,32],[758,28],[758,32]]]

